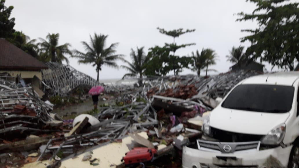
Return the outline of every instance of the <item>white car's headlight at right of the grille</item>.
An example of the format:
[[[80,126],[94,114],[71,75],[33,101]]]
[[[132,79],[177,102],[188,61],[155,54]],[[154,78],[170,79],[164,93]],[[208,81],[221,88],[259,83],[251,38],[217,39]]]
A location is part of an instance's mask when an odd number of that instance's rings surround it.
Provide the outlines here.
[[[264,145],[278,145],[283,140],[286,134],[286,124],[281,124],[280,126],[271,130],[262,139],[262,144]]]

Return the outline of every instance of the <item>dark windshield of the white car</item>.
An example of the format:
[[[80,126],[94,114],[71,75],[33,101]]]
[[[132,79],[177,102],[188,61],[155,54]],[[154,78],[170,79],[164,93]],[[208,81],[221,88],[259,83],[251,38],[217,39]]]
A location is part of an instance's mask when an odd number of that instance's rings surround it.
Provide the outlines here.
[[[284,113],[292,108],[294,87],[277,85],[239,85],[228,95],[222,107],[257,111]]]

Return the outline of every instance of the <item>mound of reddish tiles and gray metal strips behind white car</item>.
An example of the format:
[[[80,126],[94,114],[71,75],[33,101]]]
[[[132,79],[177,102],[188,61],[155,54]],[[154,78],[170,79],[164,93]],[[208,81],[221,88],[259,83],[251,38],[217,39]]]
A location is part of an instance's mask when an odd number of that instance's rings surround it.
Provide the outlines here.
[[[163,95],[175,98],[192,98],[195,95],[207,95],[211,98],[223,98],[237,83],[245,78],[259,74],[257,71],[230,71],[209,77],[196,75],[159,78],[150,82],[147,96]]]

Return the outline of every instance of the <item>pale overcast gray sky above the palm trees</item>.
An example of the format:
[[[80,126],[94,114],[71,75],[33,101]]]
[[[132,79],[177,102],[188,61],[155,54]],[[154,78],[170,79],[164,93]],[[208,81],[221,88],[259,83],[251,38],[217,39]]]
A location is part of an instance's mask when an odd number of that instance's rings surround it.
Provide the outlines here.
[[[254,28],[255,22],[235,22],[234,13],[251,13],[255,5],[245,0],[7,0],[13,5],[15,29],[33,38],[45,38],[48,33],[59,33],[59,43],[66,42],[72,49],[84,51],[80,41],[89,42],[89,34],[108,34],[107,44],[119,42],[117,51],[130,60],[130,49],[171,43],[173,39],[158,32],[157,27],[173,30],[196,29],[177,38],[178,44],[196,43],[180,49],[176,54],[190,55],[192,51],[212,48],[218,61],[211,68],[219,73],[227,72],[231,63],[225,56],[233,46],[239,46],[239,38],[245,36],[241,29]],[[242,44],[248,46],[248,43]],[[78,64],[69,58],[70,65],[96,78],[95,68]],[[123,64],[121,61],[118,64]],[[271,66],[266,64],[266,69]],[[123,69],[103,67],[100,79],[122,78]],[[194,72],[184,70],[181,74]]]

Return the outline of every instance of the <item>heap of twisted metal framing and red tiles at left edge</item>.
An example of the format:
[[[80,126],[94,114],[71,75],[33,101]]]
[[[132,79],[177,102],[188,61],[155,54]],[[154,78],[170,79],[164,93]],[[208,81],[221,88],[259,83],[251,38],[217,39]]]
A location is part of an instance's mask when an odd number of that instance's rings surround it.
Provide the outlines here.
[[[52,106],[41,101],[32,87],[17,87],[7,78],[0,75],[0,137],[9,139],[12,136],[7,134],[15,132],[51,132],[44,127],[54,120],[48,113]]]

